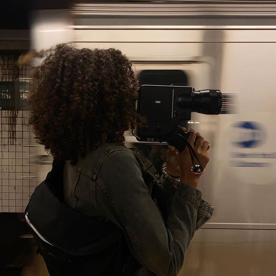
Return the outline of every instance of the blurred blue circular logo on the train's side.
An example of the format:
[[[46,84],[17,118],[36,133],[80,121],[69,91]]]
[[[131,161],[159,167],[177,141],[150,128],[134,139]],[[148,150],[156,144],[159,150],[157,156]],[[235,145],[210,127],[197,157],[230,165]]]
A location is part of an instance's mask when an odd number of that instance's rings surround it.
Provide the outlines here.
[[[236,147],[256,148],[264,141],[265,133],[258,122],[238,122],[233,127],[233,144]]]

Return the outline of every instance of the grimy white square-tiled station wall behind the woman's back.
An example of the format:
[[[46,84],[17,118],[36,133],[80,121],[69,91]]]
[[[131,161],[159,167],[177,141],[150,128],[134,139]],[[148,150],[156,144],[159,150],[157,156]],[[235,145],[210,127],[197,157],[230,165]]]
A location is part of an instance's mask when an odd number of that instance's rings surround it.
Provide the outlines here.
[[[28,111],[0,111],[0,212],[23,212],[37,186],[37,146]]]

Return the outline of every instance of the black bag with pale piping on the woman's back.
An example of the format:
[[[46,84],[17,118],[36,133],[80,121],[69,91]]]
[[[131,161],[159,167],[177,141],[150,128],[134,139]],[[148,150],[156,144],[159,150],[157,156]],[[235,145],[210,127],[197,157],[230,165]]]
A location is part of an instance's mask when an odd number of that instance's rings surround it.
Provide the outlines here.
[[[64,203],[63,167],[64,162],[53,162],[25,210],[50,276],[132,275],[140,265],[129,252],[123,232]]]

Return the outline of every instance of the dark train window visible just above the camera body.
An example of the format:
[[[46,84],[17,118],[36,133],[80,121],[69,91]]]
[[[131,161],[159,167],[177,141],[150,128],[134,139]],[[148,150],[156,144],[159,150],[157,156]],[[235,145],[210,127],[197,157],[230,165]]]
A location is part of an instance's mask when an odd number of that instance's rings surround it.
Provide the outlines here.
[[[181,83],[187,85],[187,75],[183,70],[142,70],[138,75],[139,85],[171,85]]]

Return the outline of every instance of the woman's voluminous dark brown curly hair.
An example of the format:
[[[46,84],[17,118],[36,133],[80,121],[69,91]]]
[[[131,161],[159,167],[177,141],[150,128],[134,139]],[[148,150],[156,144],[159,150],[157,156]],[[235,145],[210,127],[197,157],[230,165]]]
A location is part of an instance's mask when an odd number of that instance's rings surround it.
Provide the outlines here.
[[[121,51],[60,44],[34,71],[29,124],[56,159],[79,158],[135,127],[137,80]]]

